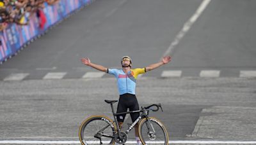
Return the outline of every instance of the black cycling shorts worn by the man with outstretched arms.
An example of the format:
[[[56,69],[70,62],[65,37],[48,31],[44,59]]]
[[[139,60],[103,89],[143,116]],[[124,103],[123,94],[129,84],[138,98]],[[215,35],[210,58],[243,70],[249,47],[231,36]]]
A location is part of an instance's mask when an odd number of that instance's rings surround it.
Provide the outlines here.
[[[133,95],[131,93],[125,93],[123,95],[120,95],[117,111],[116,113],[124,113],[127,112],[127,109],[129,108],[129,111],[136,111],[139,109],[138,100],[136,99],[136,95]],[[134,122],[139,116],[140,113],[130,113],[132,122]],[[124,122],[126,114],[120,114],[116,116],[117,121]]]

